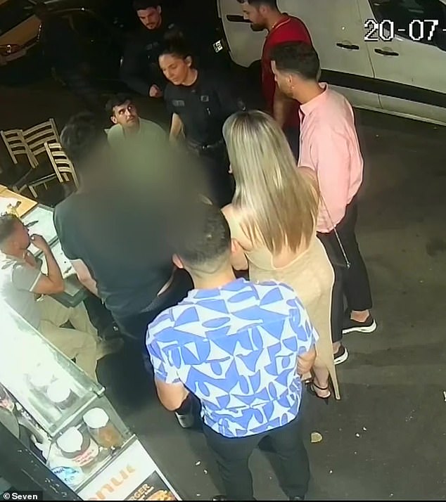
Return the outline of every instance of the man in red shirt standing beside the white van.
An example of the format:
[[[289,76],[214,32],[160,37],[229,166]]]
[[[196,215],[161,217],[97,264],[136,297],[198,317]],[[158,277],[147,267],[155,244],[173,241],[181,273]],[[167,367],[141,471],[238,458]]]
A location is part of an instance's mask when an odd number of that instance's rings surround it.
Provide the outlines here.
[[[291,15],[281,13],[277,0],[238,0],[243,17],[252,22],[254,31],[268,30],[262,52],[262,93],[267,110],[283,128],[293,153],[299,154],[299,105],[290,100],[276,86],[271,67],[270,52],[277,44],[302,41],[312,45],[310,33],[304,23]]]

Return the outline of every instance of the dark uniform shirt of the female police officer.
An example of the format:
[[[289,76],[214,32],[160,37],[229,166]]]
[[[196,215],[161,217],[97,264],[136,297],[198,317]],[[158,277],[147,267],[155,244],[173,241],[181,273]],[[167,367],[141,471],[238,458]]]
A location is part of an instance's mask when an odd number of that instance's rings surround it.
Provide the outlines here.
[[[227,78],[205,70],[191,86],[167,84],[165,102],[181,118],[186,139],[200,145],[222,139],[224,121],[244,107]]]

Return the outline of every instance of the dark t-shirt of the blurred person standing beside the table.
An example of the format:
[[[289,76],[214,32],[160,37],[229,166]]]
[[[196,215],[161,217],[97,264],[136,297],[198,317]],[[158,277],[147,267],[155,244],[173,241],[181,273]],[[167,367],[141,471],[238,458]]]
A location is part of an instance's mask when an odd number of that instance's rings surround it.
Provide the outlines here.
[[[150,202],[144,211],[132,205],[119,189],[76,193],[56,206],[63,252],[87,265],[115,318],[146,309],[172,274],[166,221],[158,213]]]

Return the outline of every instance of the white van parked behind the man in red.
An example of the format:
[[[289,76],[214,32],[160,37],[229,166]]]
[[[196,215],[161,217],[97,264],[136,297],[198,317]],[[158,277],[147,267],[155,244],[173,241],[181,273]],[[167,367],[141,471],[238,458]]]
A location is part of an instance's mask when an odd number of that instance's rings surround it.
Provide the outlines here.
[[[329,82],[358,108],[446,125],[446,0],[278,0],[302,19]],[[217,0],[231,58],[260,59],[237,0]]]

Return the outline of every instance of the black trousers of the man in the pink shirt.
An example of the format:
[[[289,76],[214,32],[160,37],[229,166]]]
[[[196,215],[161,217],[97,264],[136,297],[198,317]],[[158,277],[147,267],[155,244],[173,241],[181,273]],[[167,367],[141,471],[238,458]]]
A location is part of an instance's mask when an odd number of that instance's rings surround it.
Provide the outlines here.
[[[345,216],[336,226],[340,242],[343,244],[345,254],[350,261],[350,269],[342,266],[345,260],[336,233],[318,233],[318,237],[326,249],[327,255],[333,264],[335,271],[335,283],[333,285],[332,305],[331,305],[331,330],[333,342],[338,342],[342,338],[344,321],[344,297],[347,300],[347,309],[368,310],[372,307],[371,290],[369,275],[367,273],[364,259],[355,234],[355,226],[358,217],[357,199],[352,202],[345,210]]]

